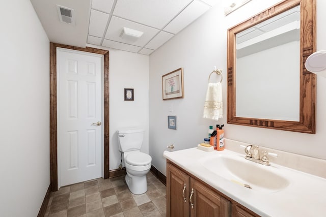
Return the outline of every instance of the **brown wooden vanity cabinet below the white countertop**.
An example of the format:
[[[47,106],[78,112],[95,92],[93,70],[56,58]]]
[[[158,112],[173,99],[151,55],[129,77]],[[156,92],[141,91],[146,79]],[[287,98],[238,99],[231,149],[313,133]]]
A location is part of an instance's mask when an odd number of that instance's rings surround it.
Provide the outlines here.
[[[168,217],[257,217],[167,160]]]

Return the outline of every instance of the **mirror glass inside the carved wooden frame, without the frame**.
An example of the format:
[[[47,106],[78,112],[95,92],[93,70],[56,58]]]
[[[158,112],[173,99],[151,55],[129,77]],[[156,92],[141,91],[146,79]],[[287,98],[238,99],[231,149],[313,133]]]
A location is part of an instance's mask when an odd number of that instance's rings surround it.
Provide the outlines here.
[[[236,116],[300,120],[300,6],[235,35]]]

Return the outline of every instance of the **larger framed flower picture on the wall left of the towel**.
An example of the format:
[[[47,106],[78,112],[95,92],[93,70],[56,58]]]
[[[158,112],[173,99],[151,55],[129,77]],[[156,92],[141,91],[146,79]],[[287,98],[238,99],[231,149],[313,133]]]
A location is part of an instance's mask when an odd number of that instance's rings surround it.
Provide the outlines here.
[[[163,100],[183,98],[182,68],[162,75],[162,98]]]

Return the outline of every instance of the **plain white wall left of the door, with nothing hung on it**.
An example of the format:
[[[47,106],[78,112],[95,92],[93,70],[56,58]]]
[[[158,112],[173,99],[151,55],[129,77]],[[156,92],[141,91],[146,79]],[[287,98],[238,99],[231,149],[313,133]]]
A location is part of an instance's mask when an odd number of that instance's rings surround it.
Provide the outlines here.
[[[0,15],[0,212],[37,216],[49,187],[49,40],[30,1]]]

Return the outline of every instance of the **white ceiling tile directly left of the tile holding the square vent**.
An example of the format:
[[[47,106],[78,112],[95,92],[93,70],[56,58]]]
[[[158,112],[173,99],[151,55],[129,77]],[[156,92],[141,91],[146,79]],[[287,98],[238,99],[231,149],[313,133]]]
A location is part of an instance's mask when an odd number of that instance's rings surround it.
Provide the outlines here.
[[[103,37],[109,14],[91,10],[90,25],[88,34],[96,37]]]

